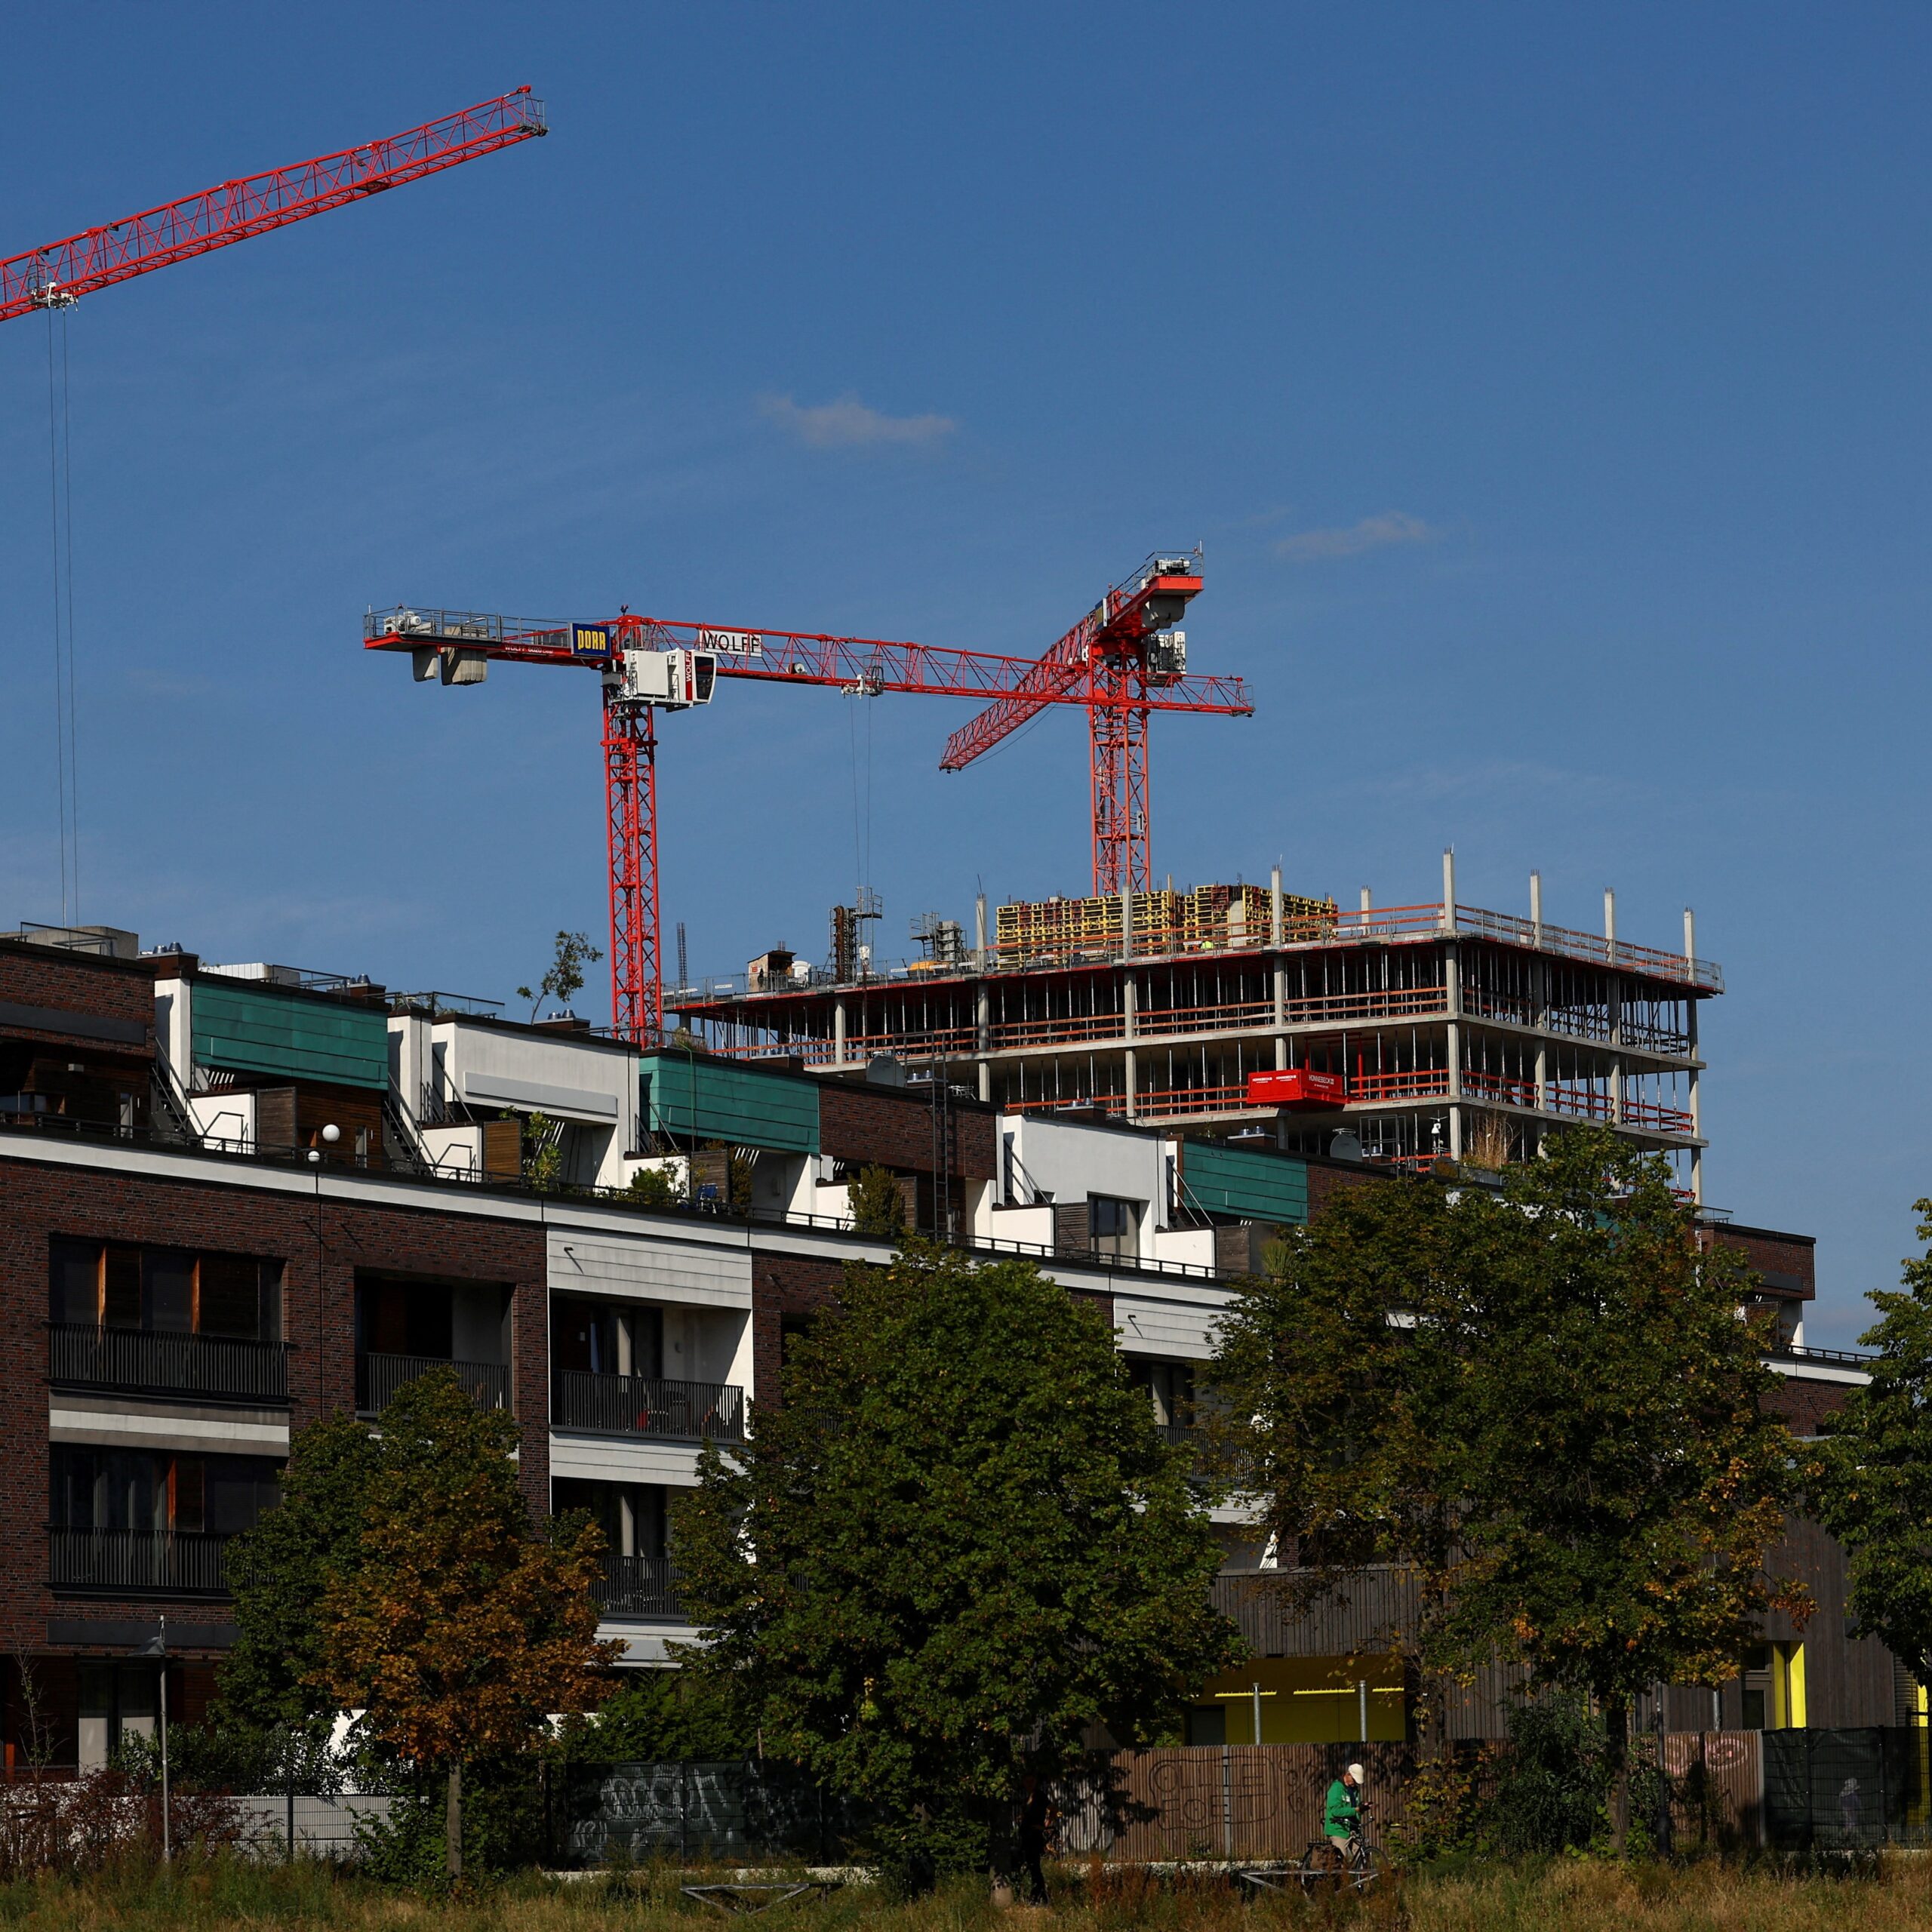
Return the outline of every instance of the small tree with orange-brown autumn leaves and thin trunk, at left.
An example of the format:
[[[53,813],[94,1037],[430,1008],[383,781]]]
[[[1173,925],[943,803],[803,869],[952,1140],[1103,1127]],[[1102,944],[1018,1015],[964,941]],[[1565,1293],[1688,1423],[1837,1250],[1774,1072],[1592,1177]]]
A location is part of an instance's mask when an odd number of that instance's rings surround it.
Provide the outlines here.
[[[462,1876],[466,1762],[533,1750],[551,1712],[597,1704],[620,1646],[597,1642],[603,1534],[533,1534],[516,1482],[516,1422],[479,1410],[439,1368],[383,1410],[354,1567],[321,1600],[315,1683],[363,1710],[363,1731],[448,1781],[448,1874]]]

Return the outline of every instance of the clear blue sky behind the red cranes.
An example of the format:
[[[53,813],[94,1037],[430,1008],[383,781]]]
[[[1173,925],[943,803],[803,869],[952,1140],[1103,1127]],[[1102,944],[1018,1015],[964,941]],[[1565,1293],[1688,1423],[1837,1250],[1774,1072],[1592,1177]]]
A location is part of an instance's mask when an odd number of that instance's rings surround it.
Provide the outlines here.
[[[1155,866],[1673,945],[1710,1198],[1861,1325],[1932,1192],[1932,15],[1864,6],[17,10],[0,255],[524,81],[553,135],[70,321],[81,912],[502,997],[603,922],[589,678],[365,605],[1032,653],[1208,547]],[[46,334],[0,328],[0,918],[58,918]],[[1055,715],[728,686],[667,931],[1080,891]],[[867,752],[869,726],[869,752]],[[587,1001],[603,1012],[603,991]]]

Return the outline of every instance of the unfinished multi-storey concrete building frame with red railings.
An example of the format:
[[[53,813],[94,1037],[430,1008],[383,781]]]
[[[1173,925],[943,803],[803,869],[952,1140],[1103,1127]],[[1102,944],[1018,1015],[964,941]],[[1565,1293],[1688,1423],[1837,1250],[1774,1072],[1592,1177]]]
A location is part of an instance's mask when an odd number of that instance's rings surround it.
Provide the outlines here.
[[[1466,906],[1455,860],[1422,906],[1343,910],[1271,885],[999,906],[972,941],[923,920],[925,956],[877,966],[852,910],[827,968],[788,954],[667,999],[744,1061],[860,1072],[891,1057],[1009,1111],[1095,1109],[1393,1165],[1490,1165],[1596,1121],[1673,1159],[1702,1200],[1694,947]],[[875,904],[862,908],[875,918]],[[1285,1078],[1287,1076],[1287,1078]]]

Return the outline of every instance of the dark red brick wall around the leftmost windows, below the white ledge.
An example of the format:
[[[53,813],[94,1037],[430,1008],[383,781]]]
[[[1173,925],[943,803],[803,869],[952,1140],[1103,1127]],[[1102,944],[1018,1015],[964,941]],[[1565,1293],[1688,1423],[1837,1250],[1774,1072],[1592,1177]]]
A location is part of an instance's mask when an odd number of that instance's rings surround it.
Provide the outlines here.
[[[294,1428],[355,1403],[355,1269],[383,1267],[508,1283],[514,1306],[512,1387],[524,1428],[520,1478],[533,1511],[549,1509],[549,1339],[543,1231],[518,1221],[350,1204],[325,1194],[149,1179],[95,1167],[0,1159],[0,1644],[43,1648],[50,1615],[153,1617],[149,1604],[54,1598],[46,1578],[48,1236],[155,1242],[257,1254],[284,1264],[284,1333]],[[176,1605],[216,1621],[213,1605]]]

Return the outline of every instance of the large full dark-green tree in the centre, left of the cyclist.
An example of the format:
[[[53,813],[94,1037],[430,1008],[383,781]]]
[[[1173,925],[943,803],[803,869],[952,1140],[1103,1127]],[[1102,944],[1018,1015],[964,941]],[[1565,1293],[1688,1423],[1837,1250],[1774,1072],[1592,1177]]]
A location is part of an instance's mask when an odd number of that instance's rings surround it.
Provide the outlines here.
[[[1103,1318],[1028,1262],[852,1267],[674,1551],[744,1727],[867,1801],[910,1882],[1010,1859],[1026,1774],[1148,1741],[1238,1654],[1219,1549]]]

